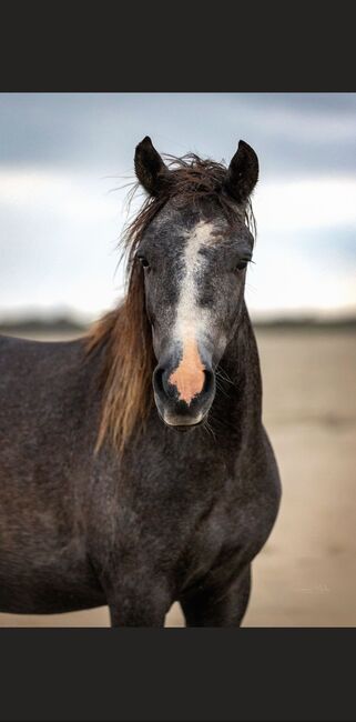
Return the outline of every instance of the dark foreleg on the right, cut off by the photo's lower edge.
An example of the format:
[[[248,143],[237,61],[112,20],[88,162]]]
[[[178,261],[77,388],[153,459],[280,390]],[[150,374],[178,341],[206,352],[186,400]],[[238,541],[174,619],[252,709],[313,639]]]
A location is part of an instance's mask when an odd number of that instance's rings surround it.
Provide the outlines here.
[[[240,626],[251,592],[251,565],[226,589],[203,586],[180,600],[186,626]]]

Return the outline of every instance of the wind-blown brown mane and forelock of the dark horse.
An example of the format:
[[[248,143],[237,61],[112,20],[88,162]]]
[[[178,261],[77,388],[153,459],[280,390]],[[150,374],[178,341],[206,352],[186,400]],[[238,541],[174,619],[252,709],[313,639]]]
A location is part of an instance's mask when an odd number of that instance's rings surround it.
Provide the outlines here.
[[[126,294],[120,307],[105,314],[88,334],[88,352],[105,347],[103,405],[96,448],[109,433],[120,451],[144,423],[152,403],[151,380],[155,365],[151,328],[145,313],[143,272],[135,261],[142,235],[155,215],[173,198],[183,204],[215,201],[227,219],[240,218],[255,235],[255,220],[248,200],[237,205],[224,190],[227,169],[223,163],[202,160],[194,153],[165,156],[169,180],[157,197],[148,197],[135,219],[126,227],[120,247],[126,261]],[[139,188],[135,183],[129,202]]]

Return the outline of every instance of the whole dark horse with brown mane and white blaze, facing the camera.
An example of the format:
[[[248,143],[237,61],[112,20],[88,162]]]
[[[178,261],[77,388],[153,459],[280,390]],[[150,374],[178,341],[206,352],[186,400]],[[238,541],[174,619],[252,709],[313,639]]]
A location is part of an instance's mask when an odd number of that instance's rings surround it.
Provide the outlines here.
[[[240,626],[281,481],[244,301],[255,151],[135,148],[126,290],[69,341],[0,340],[0,610]]]

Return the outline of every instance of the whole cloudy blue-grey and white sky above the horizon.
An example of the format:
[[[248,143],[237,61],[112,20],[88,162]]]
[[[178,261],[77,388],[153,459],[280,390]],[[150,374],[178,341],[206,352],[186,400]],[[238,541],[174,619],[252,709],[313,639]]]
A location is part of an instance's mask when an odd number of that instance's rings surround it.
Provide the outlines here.
[[[2,93],[0,319],[113,308],[144,136],[226,163],[240,139],[257,152],[253,318],[356,312],[356,93]]]

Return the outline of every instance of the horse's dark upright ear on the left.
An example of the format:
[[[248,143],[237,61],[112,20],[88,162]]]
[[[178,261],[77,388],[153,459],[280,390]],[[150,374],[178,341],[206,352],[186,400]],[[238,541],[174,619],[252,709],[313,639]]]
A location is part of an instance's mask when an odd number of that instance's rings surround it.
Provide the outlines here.
[[[149,136],[136,146],[134,169],[138,180],[150,195],[159,195],[166,185],[170,171]]]

